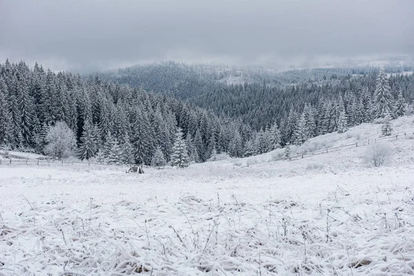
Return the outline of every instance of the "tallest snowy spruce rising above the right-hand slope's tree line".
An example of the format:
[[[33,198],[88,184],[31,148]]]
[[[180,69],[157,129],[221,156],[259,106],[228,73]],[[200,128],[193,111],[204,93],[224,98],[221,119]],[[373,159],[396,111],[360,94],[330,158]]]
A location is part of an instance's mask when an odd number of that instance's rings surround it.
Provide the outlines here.
[[[393,112],[393,95],[388,84],[388,79],[383,69],[380,70],[377,77],[375,88],[375,100],[373,104],[374,118],[384,118],[387,113]]]

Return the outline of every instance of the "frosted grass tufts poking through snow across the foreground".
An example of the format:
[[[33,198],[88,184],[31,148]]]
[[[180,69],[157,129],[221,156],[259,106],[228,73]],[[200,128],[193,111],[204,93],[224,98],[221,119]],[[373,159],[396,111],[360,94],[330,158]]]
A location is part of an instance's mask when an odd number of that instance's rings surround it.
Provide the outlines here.
[[[2,275],[414,273],[411,187],[337,188],[315,204],[182,197],[27,202],[0,226]]]

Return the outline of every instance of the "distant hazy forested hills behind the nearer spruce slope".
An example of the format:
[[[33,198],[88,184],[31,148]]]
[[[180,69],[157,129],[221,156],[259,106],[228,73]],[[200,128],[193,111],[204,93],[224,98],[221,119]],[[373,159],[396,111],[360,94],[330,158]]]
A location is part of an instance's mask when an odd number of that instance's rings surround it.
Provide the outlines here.
[[[391,62],[384,72],[390,74],[393,98],[400,90],[408,103],[414,100],[414,76],[400,72],[413,70],[411,65]],[[347,107],[353,98],[360,99],[365,90],[375,91],[377,67],[316,68],[274,72],[260,68],[230,68],[202,64],[166,62],[134,66],[99,73],[99,77],[117,83],[142,87],[213,110],[217,115],[242,119],[255,130],[275,121],[282,124],[290,109],[302,112],[322,101],[342,96]],[[161,81],[160,81],[161,80]],[[237,80],[228,83],[227,80]]]

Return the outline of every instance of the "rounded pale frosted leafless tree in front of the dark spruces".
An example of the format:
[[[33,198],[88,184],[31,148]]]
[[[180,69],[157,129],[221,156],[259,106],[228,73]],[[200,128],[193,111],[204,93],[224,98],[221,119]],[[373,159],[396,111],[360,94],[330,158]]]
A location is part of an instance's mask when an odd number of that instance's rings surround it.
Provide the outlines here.
[[[76,138],[65,122],[58,121],[55,126],[50,126],[48,135],[46,135],[46,143],[46,154],[62,159],[72,156]]]

